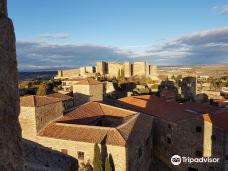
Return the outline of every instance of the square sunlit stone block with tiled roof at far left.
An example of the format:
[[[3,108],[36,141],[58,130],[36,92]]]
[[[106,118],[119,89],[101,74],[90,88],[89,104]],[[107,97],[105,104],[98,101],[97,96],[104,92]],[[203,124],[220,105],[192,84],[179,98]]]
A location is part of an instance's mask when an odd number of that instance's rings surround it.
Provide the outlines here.
[[[20,98],[21,114],[19,121],[22,136],[26,139],[34,138],[37,132],[46,127],[51,120],[63,115],[61,99],[46,96],[24,96]],[[34,117],[36,116],[36,117]]]

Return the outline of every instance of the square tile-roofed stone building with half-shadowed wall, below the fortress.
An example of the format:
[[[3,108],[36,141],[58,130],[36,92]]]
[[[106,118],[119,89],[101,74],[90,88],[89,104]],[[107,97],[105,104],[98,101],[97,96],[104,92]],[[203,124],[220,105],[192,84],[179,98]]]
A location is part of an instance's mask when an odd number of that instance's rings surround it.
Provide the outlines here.
[[[92,78],[82,79],[73,85],[74,105],[90,101],[103,101],[104,84]]]

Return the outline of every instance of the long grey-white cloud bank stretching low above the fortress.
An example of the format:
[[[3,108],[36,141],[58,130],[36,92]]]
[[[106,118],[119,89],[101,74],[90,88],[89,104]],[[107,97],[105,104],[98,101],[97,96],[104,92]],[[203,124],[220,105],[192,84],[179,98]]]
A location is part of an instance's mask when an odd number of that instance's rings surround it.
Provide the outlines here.
[[[228,63],[228,27],[180,36],[146,48],[18,41],[17,56],[20,70],[75,68],[95,65],[100,60],[147,60],[161,65]]]

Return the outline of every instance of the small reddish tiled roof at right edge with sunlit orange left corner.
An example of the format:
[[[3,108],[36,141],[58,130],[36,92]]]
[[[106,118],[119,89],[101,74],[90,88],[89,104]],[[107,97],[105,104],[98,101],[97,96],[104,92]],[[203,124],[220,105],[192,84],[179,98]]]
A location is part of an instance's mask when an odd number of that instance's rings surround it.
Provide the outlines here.
[[[200,119],[212,123],[218,128],[223,128],[228,131],[228,111],[217,112],[214,114],[204,114]]]

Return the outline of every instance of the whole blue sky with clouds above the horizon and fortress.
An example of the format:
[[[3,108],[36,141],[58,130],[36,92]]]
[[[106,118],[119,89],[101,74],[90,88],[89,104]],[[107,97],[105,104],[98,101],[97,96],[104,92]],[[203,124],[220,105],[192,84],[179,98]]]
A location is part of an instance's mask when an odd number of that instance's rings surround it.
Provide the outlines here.
[[[20,71],[228,63],[225,0],[8,0]]]

